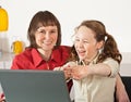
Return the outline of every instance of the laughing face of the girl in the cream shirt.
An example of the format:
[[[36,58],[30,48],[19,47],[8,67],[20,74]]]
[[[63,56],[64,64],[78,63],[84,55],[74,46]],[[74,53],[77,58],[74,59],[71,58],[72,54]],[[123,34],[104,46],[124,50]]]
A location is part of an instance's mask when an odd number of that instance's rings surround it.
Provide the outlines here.
[[[94,36],[94,31],[86,26],[81,26],[76,30],[74,47],[80,60],[87,62],[97,55],[102,44],[96,41]]]

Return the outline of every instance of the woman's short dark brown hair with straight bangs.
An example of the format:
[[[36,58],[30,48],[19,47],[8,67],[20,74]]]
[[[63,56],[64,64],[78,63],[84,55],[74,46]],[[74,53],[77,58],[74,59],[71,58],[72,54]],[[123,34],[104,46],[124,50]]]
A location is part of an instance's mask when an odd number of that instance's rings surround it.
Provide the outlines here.
[[[28,27],[28,31],[27,31],[27,38],[29,40],[28,48],[38,48],[38,46],[35,41],[35,33],[41,26],[57,26],[58,39],[57,39],[56,47],[60,46],[60,43],[61,43],[61,25],[60,25],[58,18],[49,11],[39,11],[33,16],[29,27]]]

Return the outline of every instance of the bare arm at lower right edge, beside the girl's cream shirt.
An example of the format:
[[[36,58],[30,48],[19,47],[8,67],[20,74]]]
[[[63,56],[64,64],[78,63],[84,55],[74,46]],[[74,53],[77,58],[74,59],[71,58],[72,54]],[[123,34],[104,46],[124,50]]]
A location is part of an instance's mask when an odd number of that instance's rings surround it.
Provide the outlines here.
[[[117,75],[116,81],[116,100],[117,102],[130,102],[128,93],[126,91],[124,85],[120,78],[120,75]]]

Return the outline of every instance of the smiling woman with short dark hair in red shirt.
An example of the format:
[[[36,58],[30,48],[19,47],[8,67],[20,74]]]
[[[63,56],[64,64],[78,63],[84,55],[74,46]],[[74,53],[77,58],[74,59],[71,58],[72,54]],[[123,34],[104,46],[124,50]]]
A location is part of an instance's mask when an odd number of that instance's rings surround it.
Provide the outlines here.
[[[34,15],[27,38],[29,47],[14,58],[11,69],[53,69],[69,58],[70,48],[60,46],[60,23],[49,11],[39,11]],[[71,85],[71,81],[68,82],[69,90]]]

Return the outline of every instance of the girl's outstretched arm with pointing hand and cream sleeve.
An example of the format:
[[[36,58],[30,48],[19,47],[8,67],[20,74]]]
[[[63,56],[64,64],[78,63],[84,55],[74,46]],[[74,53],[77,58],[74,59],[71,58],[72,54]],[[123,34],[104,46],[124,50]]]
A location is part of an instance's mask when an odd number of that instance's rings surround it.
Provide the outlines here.
[[[117,62],[111,63],[98,63],[93,65],[76,65],[66,69],[71,71],[71,75],[74,79],[82,79],[88,75],[99,75],[107,77],[115,77],[119,72],[119,64]]]

